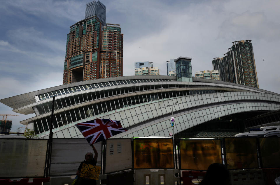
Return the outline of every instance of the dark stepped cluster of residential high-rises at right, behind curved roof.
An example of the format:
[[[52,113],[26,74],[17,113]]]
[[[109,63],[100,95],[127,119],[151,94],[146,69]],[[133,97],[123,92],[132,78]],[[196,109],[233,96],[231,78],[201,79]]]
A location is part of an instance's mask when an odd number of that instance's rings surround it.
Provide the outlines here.
[[[223,58],[214,58],[214,70],[219,70],[221,81],[259,88],[251,40],[232,42]]]

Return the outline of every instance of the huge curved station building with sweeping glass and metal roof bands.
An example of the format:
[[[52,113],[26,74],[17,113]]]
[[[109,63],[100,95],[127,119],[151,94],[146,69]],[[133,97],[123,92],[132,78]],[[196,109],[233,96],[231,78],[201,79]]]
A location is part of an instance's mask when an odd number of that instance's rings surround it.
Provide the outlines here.
[[[173,133],[170,126],[172,107],[177,136],[183,136],[195,127],[240,130],[239,121],[245,120],[245,114],[253,117],[280,109],[280,95],[270,91],[202,78],[179,82],[175,76],[88,80],[5,98],[0,102],[17,113],[35,113],[34,117],[20,123],[29,125],[39,138],[48,138],[47,123],[53,96],[56,96],[54,138],[83,137],[75,124],[95,118],[118,120],[129,129],[114,136],[116,138],[167,137]]]

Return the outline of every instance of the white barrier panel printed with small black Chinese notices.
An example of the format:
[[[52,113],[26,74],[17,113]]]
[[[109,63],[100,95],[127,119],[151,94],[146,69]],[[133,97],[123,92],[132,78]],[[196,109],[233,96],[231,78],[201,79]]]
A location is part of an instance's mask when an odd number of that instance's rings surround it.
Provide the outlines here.
[[[105,173],[132,169],[131,139],[106,139]]]

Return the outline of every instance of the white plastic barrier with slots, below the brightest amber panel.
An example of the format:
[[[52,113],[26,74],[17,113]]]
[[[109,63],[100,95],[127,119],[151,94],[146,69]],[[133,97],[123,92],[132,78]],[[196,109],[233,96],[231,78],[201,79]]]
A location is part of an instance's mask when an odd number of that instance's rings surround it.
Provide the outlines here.
[[[175,177],[175,173],[180,173],[179,169],[158,169],[158,170],[135,170],[134,185],[146,184],[146,177],[148,177],[148,184],[157,185],[163,184],[174,185],[176,181],[180,181],[180,177]],[[163,177],[163,178],[162,178]]]

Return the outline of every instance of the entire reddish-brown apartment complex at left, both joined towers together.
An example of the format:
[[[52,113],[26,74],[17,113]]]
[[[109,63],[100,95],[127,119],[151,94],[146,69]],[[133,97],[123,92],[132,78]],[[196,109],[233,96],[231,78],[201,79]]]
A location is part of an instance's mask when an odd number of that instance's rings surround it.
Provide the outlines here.
[[[77,22],[67,34],[63,84],[122,76],[122,53],[119,24],[107,24],[102,33],[95,16]]]

